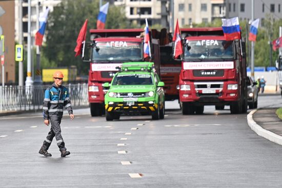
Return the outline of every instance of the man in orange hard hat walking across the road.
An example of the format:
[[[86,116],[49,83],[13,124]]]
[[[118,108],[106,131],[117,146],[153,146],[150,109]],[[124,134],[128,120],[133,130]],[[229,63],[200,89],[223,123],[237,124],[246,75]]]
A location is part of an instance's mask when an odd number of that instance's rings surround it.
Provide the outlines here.
[[[59,151],[61,151],[61,157],[65,157],[70,154],[65,148],[65,142],[61,135],[61,120],[63,118],[63,108],[65,107],[69,112],[70,118],[73,119],[71,101],[69,99],[69,91],[67,88],[62,86],[64,75],[61,71],[55,71],[53,74],[54,83],[48,87],[45,91],[44,105],[43,105],[43,116],[44,123],[49,126],[51,122],[51,129],[44,140],[39,154],[46,157],[52,155],[47,152],[54,137],[56,137]]]

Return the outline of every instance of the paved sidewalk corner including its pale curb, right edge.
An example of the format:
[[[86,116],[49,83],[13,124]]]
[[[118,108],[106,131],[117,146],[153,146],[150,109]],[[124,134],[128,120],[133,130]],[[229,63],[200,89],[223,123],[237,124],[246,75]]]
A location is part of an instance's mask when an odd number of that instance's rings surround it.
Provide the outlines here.
[[[263,108],[247,115],[250,128],[259,136],[282,145],[282,120],[275,114],[277,108]]]

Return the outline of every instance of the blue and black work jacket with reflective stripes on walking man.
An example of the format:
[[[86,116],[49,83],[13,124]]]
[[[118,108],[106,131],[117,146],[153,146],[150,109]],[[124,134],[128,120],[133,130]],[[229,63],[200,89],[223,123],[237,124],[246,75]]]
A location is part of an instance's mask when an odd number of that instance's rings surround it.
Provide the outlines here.
[[[63,113],[65,107],[69,114],[72,114],[69,90],[64,87],[56,87],[55,83],[45,90],[43,117],[49,119],[49,114]]]

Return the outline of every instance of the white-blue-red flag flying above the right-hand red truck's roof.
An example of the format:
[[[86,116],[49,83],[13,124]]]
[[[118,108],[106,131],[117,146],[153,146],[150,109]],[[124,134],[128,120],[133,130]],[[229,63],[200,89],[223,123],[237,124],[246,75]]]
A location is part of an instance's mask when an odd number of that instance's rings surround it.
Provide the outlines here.
[[[230,19],[221,19],[223,22],[222,28],[226,40],[234,40],[241,38],[239,19],[233,17]]]

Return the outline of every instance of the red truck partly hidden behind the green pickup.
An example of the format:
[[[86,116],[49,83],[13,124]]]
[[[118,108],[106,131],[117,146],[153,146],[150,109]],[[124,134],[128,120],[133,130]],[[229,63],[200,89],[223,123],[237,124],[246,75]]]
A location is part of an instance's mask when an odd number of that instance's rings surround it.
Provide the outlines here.
[[[91,56],[88,78],[88,100],[91,116],[105,114],[104,95],[107,89],[103,86],[110,82],[117,67],[123,62],[154,62],[159,74],[159,41],[150,35],[151,58],[145,59],[143,29],[91,29]]]

